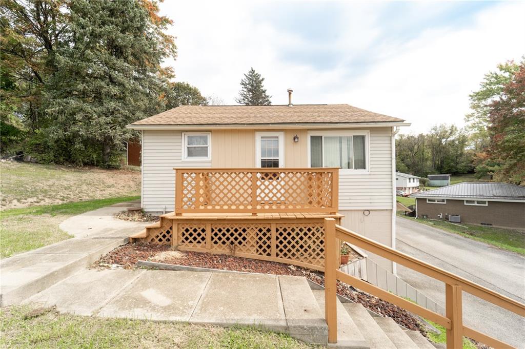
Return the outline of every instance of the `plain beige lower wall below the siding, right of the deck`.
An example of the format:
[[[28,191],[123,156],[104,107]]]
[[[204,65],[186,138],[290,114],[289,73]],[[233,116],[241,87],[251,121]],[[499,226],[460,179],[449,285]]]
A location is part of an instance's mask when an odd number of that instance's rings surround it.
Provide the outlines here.
[[[339,210],[341,225],[367,238],[392,246],[392,210]],[[366,251],[381,267],[392,272],[392,261]]]

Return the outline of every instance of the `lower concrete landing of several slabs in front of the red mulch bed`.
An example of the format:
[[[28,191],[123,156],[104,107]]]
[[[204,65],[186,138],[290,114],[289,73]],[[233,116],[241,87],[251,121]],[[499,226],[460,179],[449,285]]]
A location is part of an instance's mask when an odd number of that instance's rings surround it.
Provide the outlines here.
[[[301,277],[167,270],[83,270],[25,302],[105,318],[250,325],[324,343],[323,313]]]

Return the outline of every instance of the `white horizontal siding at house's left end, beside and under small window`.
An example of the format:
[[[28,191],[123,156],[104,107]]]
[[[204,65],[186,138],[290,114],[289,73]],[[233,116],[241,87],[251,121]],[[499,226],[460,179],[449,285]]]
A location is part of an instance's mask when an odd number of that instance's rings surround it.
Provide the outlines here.
[[[173,167],[212,166],[211,161],[182,161],[182,131],[143,131],[142,147],[144,211],[171,212],[175,209]]]

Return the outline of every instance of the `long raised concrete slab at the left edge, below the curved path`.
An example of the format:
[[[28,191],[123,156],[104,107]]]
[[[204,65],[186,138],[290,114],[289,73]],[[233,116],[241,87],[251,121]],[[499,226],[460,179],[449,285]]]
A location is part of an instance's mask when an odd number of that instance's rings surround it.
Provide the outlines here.
[[[0,263],[0,306],[32,297],[89,267],[127,241],[128,238],[72,238],[3,259]]]

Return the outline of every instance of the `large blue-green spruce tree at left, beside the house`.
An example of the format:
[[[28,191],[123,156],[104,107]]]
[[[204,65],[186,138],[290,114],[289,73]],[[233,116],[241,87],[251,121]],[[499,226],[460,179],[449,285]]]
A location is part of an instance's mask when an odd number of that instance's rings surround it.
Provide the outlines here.
[[[56,51],[47,88],[45,130],[56,162],[118,165],[125,126],[165,109],[175,55],[170,20],[150,0],[77,0],[70,3],[70,44]]]

